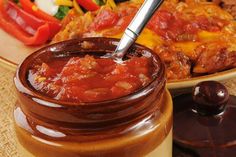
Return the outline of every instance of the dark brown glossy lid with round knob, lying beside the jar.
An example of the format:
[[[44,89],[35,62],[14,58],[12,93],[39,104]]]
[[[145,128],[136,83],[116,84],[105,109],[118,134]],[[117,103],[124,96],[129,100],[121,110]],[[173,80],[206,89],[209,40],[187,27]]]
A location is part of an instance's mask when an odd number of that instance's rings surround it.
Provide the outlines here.
[[[215,81],[174,99],[174,142],[189,156],[236,156],[236,97]]]

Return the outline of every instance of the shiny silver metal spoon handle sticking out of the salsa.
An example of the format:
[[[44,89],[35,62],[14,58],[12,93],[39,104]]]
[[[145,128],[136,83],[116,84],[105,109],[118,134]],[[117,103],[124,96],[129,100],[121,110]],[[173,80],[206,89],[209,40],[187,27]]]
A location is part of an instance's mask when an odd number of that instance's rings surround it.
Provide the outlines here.
[[[148,23],[154,12],[161,6],[164,0],[145,0],[129,26],[126,28],[112,57],[117,62],[122,62],[127,50],[135,42],[145,25]]]

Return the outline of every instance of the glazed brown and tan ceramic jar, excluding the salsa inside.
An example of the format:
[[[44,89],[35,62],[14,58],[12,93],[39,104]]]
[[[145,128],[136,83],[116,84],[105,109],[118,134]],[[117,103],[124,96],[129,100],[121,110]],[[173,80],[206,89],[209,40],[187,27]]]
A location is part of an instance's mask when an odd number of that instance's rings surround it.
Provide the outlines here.
[[[151,50],[134,45],[129,55],[152,57],[153,80],[112,100],[76,103],[55,100],[35,90],[29,69],[57,57],[104,55],[117,40],[86,38],[45,47],[19,66],[14,83],[18,148],[22,157],[171,157],[172,101],[165,68]]]

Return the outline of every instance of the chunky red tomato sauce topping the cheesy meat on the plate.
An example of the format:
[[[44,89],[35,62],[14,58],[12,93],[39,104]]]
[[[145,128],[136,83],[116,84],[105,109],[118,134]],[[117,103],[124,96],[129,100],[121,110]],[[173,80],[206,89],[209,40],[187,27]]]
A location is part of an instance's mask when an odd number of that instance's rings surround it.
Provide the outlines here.
[[[120,12],[110,9],[103,9],[95,17],[90,26],[91,30],[101,31],[115,28],[115,32],[123,32],[131,22],[137,12],[137,8],[127,7]],[[193,15],[191,19],[183,18],[183,14],[178,11],[158,10],[147,28],[160,35],[165,40],[172,41],[195,41],[197,33],[201,30],[210,32],[220,31],[227,21],[218,17],[206,17],[204,15]],[[112,32],[111,32],[112,33]]]

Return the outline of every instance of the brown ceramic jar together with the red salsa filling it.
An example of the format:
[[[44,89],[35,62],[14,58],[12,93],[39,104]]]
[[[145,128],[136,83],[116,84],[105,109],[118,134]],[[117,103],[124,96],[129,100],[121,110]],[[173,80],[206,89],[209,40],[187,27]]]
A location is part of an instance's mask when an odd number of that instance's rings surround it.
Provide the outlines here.
[[[138,44],[122,64],[104,58],[118,42],[68,40],[23,61],[13,113],[21,156],[172,157],[165,66]]]

